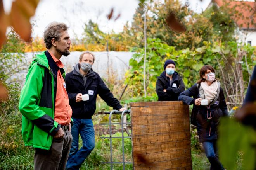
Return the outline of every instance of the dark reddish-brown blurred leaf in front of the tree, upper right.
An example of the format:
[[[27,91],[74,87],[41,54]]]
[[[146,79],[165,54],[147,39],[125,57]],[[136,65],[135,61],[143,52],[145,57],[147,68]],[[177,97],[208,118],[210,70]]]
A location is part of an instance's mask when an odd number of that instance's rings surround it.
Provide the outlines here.
[[[177,32],[186,31],[185,26],[177,19],[175,12],[171,11],[167,14],[166,17],[167,25],[170,29]]]

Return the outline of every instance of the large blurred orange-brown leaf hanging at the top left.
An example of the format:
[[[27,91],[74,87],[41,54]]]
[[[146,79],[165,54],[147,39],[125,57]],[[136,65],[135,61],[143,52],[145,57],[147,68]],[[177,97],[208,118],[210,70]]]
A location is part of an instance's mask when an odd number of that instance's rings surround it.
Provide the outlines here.
[[[10,24],[25,41],[31,41],[30,17],[35,14],[39,0],[16,0],[12,3]]]

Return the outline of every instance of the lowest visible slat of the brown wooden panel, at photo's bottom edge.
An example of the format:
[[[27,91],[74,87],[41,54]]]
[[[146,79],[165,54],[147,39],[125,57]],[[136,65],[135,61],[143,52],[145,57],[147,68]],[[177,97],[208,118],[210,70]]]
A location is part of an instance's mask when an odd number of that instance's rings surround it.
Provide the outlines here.
[[[167,170],[171,168],[182,168],[191,166],[191,158],[180,158],[162,162],[148,163],[144,165],[135,165],[136,170]],[[168,168],[167,168],[168,167]],[[191,167],[192,169],[192,167]]]

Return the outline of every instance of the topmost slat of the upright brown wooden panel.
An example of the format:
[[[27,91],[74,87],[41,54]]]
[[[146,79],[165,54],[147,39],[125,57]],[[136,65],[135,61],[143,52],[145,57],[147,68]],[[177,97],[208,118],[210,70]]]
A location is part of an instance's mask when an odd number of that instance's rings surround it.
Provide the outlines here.
[[[165,102],[131,102],[131,107],[144,106],[164,106],[164,105],[185,105],[182,101],[165,101]]]

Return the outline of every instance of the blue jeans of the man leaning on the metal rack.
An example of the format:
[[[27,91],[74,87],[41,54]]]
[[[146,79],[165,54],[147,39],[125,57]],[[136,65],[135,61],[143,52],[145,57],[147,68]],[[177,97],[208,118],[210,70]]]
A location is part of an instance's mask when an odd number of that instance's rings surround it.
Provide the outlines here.
[[[73,118],[73,126],[71,134],[73,141],[67,160],[66,169],[78,170],[82,163],[95,146],[95,136],[92,119],[76,119]],[[79,134],[83,141],[83,146],[78,150]]]

